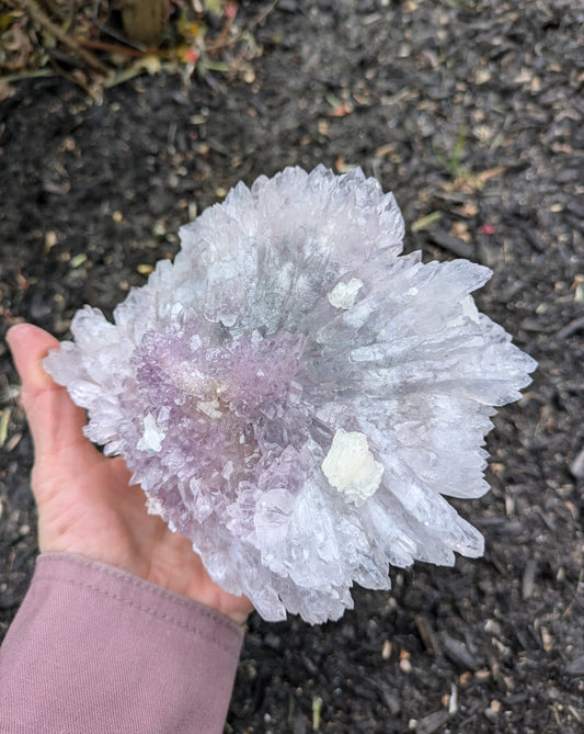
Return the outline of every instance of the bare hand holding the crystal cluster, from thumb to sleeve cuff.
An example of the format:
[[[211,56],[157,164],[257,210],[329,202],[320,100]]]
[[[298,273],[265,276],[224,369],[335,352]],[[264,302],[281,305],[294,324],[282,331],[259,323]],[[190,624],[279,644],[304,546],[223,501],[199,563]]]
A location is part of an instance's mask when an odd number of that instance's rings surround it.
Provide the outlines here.
[[[83,436],[85,413],[43,370],[59,342],[21,324],[7,341],[22,380],[22,404],[35,445],[32,488],[44,553],[77,553],[245,621],[252,605],[208,576],[191,542],[146,511],[145,494],[130,485],[123,459],[108,459]]]

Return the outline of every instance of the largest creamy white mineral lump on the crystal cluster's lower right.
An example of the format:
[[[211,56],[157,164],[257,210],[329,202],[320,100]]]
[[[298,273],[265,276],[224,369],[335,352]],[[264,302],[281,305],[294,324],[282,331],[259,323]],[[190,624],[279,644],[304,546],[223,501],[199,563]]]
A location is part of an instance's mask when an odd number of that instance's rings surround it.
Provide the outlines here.
[[[347,501],[363,505],[381,484],[383,466],[375,461],[366,436],[340,428],[322,462],[322,473]]]

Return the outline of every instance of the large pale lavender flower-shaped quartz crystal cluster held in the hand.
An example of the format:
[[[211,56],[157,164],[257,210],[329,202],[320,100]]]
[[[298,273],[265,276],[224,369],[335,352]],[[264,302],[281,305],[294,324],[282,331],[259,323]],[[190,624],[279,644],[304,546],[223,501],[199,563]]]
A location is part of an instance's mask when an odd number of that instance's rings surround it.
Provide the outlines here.
[[[477,310],[490,270],[401,256],[402,236],[359,169],[240,183],[114,324],[85,307],[44,362],[148,510],[267,620],[337,619],[390,564],[483,552],[444,496],[488,490],[492,406],[536,363]]]

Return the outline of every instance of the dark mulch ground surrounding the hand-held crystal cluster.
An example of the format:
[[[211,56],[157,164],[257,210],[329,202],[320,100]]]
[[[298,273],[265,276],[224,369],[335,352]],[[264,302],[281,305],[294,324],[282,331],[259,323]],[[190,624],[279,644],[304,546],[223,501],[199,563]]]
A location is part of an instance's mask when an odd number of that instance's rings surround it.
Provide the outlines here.
[[[253,617],[227,732],[584,731],[583,22],[577,0],[280,0],[251,83],[157,76],[95,106],[39,80],[0,106],[5,326],[66,337],[82,304],[110,314],[239,179],[359,165],[396,193],[406,249],[494,270],[479,304],[539,361],[489,437],[492,492],[461,507],[484,558],[394,571],[334,624]],[[0,359],[5,631],[36,545]]]

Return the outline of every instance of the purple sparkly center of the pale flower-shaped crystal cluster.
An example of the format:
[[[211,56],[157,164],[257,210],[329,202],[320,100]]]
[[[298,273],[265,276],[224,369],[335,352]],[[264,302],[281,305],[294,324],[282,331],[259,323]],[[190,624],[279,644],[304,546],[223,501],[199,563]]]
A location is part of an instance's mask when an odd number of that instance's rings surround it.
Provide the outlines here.
[[[199,481],[215,477],[224,489],[253,481],[260,461],[276,458],[284,411],[287,426],[306,434],[302,411],[289,405],[298,399],[294,376],[305,342],[287,331],[221,341],[201,324],[148,332],[134,355],[142,415],[150,416],[148,426],[136,427],[144,431],[140,447],[156,454],[168,441],[179,476],[188,465]]]

